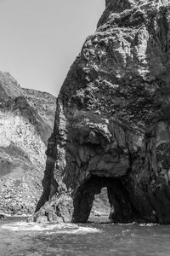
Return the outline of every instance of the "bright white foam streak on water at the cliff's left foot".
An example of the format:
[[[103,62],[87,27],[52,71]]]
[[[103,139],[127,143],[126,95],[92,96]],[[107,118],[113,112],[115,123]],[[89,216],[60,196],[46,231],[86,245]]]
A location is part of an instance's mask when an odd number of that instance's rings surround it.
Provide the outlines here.
[[[67,233],[67,234],[81,234],[81,233],[99,233],[100,230],[96,228],[82,227],[77,224],[37,224],[26,222],[15,222],[12,224],[3,224],[1,226],[4,230],[11,231],[47,231],[46,234],[51,233]]]

